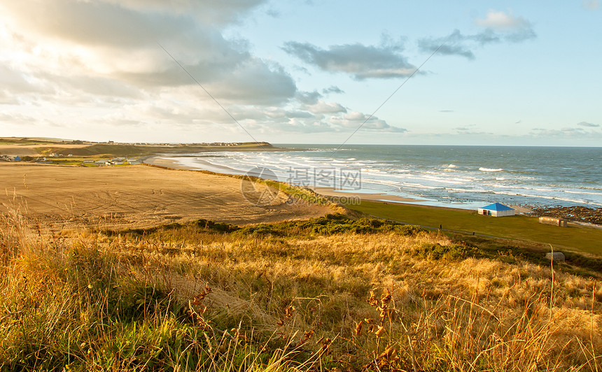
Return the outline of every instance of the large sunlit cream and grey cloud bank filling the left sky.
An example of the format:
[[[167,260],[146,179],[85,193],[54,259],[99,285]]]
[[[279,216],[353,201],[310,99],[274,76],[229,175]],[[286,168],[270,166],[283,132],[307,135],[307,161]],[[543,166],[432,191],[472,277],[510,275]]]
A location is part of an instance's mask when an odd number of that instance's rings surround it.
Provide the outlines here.
[[[247,41],[223,36],[225,24],[263,3],[2,3],[8,26],[0,24],[0,123],[241,132],[190,73],[238,122],[260,134],[338,130],[324,114],[345,113],[344,106],[321,100],[317,91],[298,92],[282,66],[253,55]],[[324,92],[342,90],[330,86]]]

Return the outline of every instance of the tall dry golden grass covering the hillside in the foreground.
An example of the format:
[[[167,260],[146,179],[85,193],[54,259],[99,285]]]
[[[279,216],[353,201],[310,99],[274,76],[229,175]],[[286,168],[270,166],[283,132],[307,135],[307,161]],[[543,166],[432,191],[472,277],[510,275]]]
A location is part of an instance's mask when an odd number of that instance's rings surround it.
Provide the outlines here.
[[[602,286],[447,236],[0,221],[0,369],[599,371]]]

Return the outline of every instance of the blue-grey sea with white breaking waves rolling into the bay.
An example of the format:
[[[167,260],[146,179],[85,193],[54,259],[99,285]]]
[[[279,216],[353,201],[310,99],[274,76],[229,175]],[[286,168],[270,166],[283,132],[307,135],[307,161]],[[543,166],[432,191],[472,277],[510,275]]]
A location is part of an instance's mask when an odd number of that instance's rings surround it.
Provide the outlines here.
[[[171,159],[220,173],[265,168],[273,173],[262,174],[288,183],[382,192],[435,206],[602,206],[602,148],[276,146],[290,150],[206,152]]]

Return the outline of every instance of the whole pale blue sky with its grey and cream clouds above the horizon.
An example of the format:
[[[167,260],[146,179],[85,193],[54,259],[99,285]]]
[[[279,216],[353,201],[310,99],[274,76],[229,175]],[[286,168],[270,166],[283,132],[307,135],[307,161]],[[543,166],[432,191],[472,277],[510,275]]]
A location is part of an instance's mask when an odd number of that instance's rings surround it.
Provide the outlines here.
[[[601,35],[598,0],[1,1],[0,136],[600,146]]]

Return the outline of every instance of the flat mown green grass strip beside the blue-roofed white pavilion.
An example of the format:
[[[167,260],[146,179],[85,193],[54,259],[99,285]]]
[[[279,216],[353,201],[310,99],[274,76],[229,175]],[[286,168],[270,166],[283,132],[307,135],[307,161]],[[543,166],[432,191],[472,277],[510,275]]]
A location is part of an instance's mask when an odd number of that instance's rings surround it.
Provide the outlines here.
[[[500,238],[520,239],[552,244],[592,255],[602,255],[602,229],[593,227],[556,227],[540,224],[537,217],[515,215],[512,217],[487,217],[476,211],[427,208],[399,203],[362,201],[348,206],[369,215],[409,224],[464,231]]]

